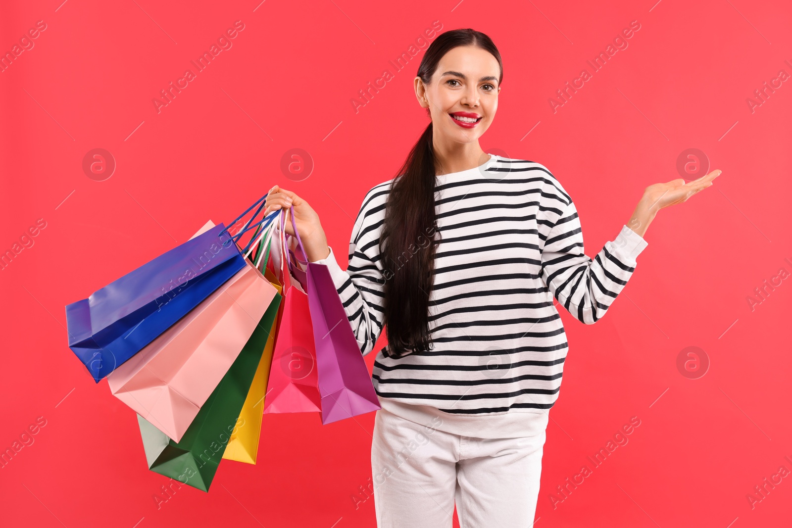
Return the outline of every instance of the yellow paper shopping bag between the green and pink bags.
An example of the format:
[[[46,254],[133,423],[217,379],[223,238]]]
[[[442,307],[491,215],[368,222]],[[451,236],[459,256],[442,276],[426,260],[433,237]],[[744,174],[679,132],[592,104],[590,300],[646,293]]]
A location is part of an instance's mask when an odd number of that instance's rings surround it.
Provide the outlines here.
[[[268,234],[268,237],[271,238],[272,233]],[[263,268],[265,279],[272,283],[272,286],[276,287],[278,293],[281,294],[283,287],[274,273],[267,267],[268,260],[270,260],[268,259],[269,248],[270,240],[266,240],[265,243],[259,246],[256,256],[253,258],[253,265],[257,265],[259,269]],[[259,264],[262,262],[262,253],[264,253],[263,264]],[[281,306],[283,306],[282,303]],[[278,310],[278,312],[280,313],[281,310]],[[264,354],[261,355],[261,360],[258,362],[256,374],[253,375],[253,383],[250,385],[245,404],[242,405],[242,411],[239,412],[238,423],[242,425],[236,427],[231,435],[228,446],[223,452],[223,458],[248,464],[256,463],[258,444],[261,437],[261,419],[263,417],[265,391],[269,378],[269,368],[272,364],[272,352],[275,346],[277,319],[278,317],[276,316],[272,320],[272,329],[269,331]]]

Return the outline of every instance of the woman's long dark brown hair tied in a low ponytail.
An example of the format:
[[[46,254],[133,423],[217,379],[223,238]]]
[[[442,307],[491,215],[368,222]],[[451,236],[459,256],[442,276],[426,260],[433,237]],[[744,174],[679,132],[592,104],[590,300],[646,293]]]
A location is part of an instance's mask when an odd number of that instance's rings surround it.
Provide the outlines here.
[[[441,33],[429,45],[417,73],[425,85],[432,81],[440,59],[458,46],[478,46],[489,51],[501,65],[500,84],[503,63],[497,47],[484,33],[465,28]],[[429,108],[426,112],[431,116]],[[380,235],[386,279],[387,355],[395,358],[413,351],[427,351],[431,341],[428,308],[437,244],[437,167],[432,139],[430,122],[398,170],[399,176],[390,185]]]

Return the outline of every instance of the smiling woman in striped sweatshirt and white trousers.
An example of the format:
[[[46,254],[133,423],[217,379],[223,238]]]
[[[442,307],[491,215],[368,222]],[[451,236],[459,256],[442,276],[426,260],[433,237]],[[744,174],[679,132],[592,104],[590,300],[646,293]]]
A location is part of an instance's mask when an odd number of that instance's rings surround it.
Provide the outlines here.
[[[502,79],[501,55],[482,32],[432,42],[415,78],[432,122],[398,176],[367,192],[346,272],[304,199],[276,185],[266,200],[267,214],[293,207],[308,259],[329,266],[364,355],[386,326],[373,375],[378,526],[451,526],[455,505],[464,528],[533,524],[568,350],[553,298],[585,324],[599,320],[634,272],[657,211],[720,174],[647,187],[592,260],[556,177],[479,146]]]

